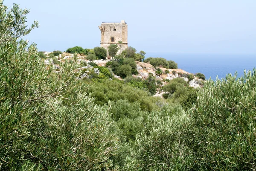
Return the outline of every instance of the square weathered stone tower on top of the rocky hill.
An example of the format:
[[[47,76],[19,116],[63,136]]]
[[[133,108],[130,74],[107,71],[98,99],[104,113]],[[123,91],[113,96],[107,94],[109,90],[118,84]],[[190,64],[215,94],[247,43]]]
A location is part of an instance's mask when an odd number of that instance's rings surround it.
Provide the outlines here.
[[[128,26],[125,20],[121,20],[121,22],[102,22],[99,29],[101,31],[101,47],[108,50],[110,44],[117,44],[119,46],[117,54],[128,47]]]

